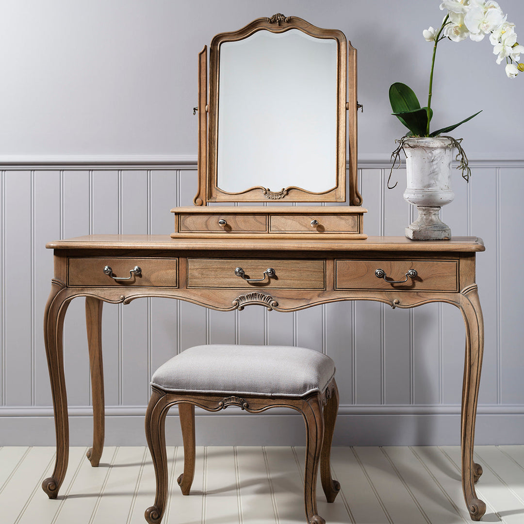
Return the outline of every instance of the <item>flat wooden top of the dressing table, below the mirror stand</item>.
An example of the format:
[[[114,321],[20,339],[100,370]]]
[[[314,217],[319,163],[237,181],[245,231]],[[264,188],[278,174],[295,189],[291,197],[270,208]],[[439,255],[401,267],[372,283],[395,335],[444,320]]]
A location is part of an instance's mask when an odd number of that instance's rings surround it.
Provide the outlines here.
[[[185,250],[274,250],[274,251],[484,251],[482,238],[457,236],[450,240],[414,241],[404,236],[370,236],[365,240],[235,238],[171,238],[169,235],[85,235],[49,242],[48,249],[185,249]]]

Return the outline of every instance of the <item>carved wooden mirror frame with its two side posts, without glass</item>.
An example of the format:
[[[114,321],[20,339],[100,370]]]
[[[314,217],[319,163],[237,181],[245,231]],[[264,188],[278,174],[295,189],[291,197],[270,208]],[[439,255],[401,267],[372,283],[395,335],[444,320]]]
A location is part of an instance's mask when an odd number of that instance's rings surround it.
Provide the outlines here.
[[[316,193],[290,186],[273,192],[261,185],[254,185],[238,193],[226,192],[217,184],[217,144],[219,120],[220,46],[224,42],[242,40],[260,30],[281,33],[298,29],[315,38],[329,38],[337,42],[337,129],[336,173],[333,188]],[[347,64],[347,69],[346,69]],[[346,82],[347,79],[347,82]],[[210,103],[207,103],[207,46],[199,54],[199,155],[198,192],[195,205],[208,202],[345,202],[346,201],[346,127],[349,114],[349,204],[361,205],[357,190],[357,126],[356,126],[356,49],[347,42],[344,33],[337,29],[322,29],[302,18],[285,17],[277,13],[271,18],[257,18],[245,27],[216,35],[210,47]],[[209,116],[208,116],[209,115]],[[209,134],[208,134],[209,120]]]

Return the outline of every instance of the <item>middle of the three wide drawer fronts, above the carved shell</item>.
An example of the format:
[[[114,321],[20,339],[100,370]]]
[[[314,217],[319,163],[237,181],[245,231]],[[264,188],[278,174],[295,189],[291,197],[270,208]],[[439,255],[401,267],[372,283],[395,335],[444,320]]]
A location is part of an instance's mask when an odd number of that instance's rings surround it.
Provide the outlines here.
[[[245,278],[261,279],[248,282],[235,274],[242,268]],[[274,277],[264,272],[272,268]],[[271,288],[325,289],[324,260],[188,258],[188,288]]]

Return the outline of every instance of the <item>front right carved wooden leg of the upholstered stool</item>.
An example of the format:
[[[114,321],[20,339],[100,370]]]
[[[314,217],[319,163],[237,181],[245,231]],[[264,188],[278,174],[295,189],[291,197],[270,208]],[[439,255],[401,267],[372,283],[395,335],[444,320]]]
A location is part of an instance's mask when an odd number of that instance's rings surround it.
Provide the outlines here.
[[[324,417],[320,395],[304,401],[302,415],[305,422],[305,516],[309,524],[325,524],[325,520],[318,515],[316,509],[316,475],[324,438]]]

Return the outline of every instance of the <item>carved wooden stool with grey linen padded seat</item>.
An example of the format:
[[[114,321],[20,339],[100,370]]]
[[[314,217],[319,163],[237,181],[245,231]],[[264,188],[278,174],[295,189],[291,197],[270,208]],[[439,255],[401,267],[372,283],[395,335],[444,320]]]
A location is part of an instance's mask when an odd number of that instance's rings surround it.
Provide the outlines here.
[[[189,495],[195,466],[194,407],[220,411],[239,406],[249,413],[289,407],[302,413],[306,452],[305,515],[325,524],[316,509],[316,474],[333,502],[340,484],[331,478],[330,453],[339,392],[331,358],[318,351],[289,346],[203,345],[191,347],[160,366],[151,380],[146,437],[156,476],[155,505],[146,509],[150,523],[162,520],[168,490],[166,414],[178,404],[184,444],[184,472],[178,484]]]

